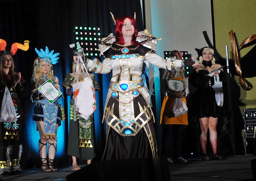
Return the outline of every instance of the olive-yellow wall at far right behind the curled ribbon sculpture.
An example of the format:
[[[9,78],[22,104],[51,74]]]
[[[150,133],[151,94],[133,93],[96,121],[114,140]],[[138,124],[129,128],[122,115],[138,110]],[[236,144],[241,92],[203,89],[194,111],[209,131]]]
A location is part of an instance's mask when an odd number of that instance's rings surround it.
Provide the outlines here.
[[[236,34],[239,45],[245,38],[256,34],[255,7],[255,0],[213,0],[216,48],[222,57],[225,57],[225,45],[228,45],[229,51],[231,50],[229,39],[229,32],[231,30]],[[252,49],[252,46],[242,49],[241,57],[250,49]],[[256,77],[246,79],[253,86],[256,86]],[[239,85],[237,76],[235,76],[235,80]],[[240,100],[245,105],[240,106],[240,110],[255,108],[255,97],[255,88],[252,88],[250,91],[245,91],[241,88]]]

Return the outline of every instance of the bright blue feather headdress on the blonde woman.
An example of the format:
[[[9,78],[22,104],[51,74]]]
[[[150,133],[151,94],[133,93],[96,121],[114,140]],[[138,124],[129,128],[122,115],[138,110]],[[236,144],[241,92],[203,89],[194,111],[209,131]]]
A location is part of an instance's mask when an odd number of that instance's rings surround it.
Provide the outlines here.
[[[38,56],[42,59],[45,60],[46,62],[49,62],[50,64],[55,65],[56,63],[58,63],[58,59],[59,57],[57,57],[60,53],[55,53],[53,54],[54,50],[52,50],[51,52],[49,51],[48,47],[45,47],[45,51],[43,49],[40,49],[40,51],[38,49],[35,48],[35,51],[37,52]]]

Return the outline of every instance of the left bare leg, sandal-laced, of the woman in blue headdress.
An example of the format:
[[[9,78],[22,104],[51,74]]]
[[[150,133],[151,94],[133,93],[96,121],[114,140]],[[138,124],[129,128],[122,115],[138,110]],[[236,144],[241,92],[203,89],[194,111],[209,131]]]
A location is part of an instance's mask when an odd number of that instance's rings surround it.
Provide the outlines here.
[[[46,154],[47,154],[47,141],[46,139],[43,139],[43,133],[44,133],[44,126],[43,126],[43,121],[36,121],[36,125],[39,131],[39,135],[40,135],[40,140],[39,140],[39,155],[42,161],[42,166],[41,166],[41,170],[42,171],[51,171],[51,169],[48,166],[47,163],[47,158],[46,158]]]

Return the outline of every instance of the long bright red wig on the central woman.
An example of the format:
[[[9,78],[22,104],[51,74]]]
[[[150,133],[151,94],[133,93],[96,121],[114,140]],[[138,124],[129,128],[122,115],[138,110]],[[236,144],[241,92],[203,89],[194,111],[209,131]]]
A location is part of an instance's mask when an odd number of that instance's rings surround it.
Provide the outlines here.
[[[136,41],[136,38],[137,38],[137,35],[138,35],[138,30],[137,30],[137,27],[136,27],[136,23],[135,23],[135,20],[129,15],[122,15],[119,18],[116,19],[116,25],[115,25],[115,34],[117,36],[116,43],[121,44],[121,45],[125,44],[124,37],[123,37],[123,34],[122,34],[122,27],[124,25],[124,20],[126,18],[129,18],[130,21],[132,22],[133,26],[134,26],[134,34],[132,35],[132,44],[133,45],[139,45],[139,42]]]

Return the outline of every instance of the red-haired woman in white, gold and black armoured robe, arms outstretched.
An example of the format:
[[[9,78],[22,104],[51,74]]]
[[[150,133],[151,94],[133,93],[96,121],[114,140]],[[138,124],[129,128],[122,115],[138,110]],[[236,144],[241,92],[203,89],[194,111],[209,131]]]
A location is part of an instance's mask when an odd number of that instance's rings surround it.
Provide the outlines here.
[[[103,38],[99,49],[104,60],[87,59],[89,71],[107,74],[112,71],[104,119],[107,142],[103,160],[157,157],[154,116],[150,93],[143,83],[143,64],[173,70],[184,66],[174,57],[163,59],[156,54],[159,39],[146,30],[138,32],[135,18],[122,15],[115,22],[116,39],[111,33]],[[138,32],[138,33],[137,33]],[[184,62],[192,66],[195,62]]]

